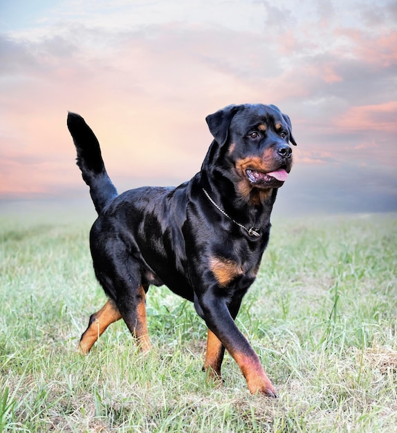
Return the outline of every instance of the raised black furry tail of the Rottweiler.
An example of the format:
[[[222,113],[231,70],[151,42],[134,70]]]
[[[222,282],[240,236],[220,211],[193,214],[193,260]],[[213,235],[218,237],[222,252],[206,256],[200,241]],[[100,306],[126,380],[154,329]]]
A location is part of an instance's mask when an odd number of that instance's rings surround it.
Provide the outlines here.
[[[77,149],[77,165],[82,171],[84,182],[90,187],[95,210],[100,214],[118,192],[104,167],[100,145],[82,116],[68,113],[68,130]]]

